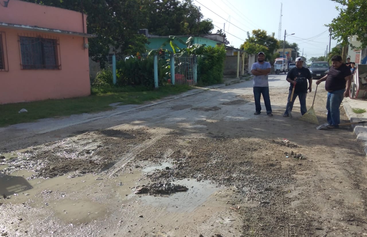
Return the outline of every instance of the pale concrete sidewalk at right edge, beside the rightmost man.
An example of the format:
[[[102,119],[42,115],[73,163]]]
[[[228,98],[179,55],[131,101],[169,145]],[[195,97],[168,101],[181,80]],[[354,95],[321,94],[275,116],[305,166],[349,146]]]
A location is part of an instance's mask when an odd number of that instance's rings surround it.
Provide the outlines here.
[[[345,98],[342,103],[345,113],[351,123],[367,121],[367,112],[356,114],[353,109],[365,109],[367,111],[367,100]],[[364,152],[367,155],[367,126],[364,123],[352,125],[358,140],[364,143]]]

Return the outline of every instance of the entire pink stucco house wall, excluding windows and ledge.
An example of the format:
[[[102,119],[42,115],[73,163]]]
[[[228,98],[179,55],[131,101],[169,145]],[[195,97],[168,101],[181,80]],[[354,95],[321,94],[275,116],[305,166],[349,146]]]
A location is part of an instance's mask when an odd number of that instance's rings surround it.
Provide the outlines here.
[[[24,5],[20,3],[24,3]],[[15,5],[15,3],[19,5]],[[17,6],[19,12],[33,12],[35,15],[39,14],[40,9],[43,11],[50,10],[54,16],[58,16],[60,12],[66,12],[69,14],[72,11],[65,11],[60,8],[44,8],[37,4],[29,4],[22,1],[11,0],[9,6],[14,4]],[[13,6],[14,6],[13,5]],[[29,10],[29,6],[32,6],[32,10]],[[14,22],[12,19],[16,17],[11,15],[15,10],[12,9],[8,12],[9,19],[4,18],[2,12],[4,7],[0,7],[0,21],[14,24],[27,24],[28,19],[22,17],[25,22]],[[27,11],[25,11],[27,9]],[[58,10],[60,12],[58,12]],[[48,12],[50,13],[50,12]],[[61,29],[60,24],[64,25],[63,29],[70,31],[83,31],[83,28],[78,28],[75,25],[82,25],[81,13],[72,12],[70,16],[63,17],[60,22],[54,22],[51,20],[51,15],[44,14],[49,17],[45,17],[41,20],[38,26],[48,27],[53,29]],[[76,14],[75,14],[76,13]],[[20,17],[21,15],[19,15]],[[29,18],[32,18],[28,14]],[[66,24],[70,18],[73,19],[73,24]],[[34,19],[29,20],[32,22]],[[86,21],[84,21],[86,23]],[[32,24],[28,24],[32,25]],[[67,26],[70,26],[68,28]],[[68,28],[68,29],[67,29]],[[23,29],[10,29],[2,28],[0,26],[0,32],[5,32],[6,38],[6,55],[5,59],[7,62],[8,70],[0,71],[0,104],[6,103],[17,103],[24,101],[35,101],[35,100],[46,100],[46,99],[57,99],[57,98],[70,98],[88,96],[90,94],[90,79],[89,79],[89,60],[88,50],[84,49],[83,43],[87,43],[87,39],[83,39],[82,36],[67,35],[67,34],[56,34],[48,32],[33,32],[32,30]],[[21,69],[21,53],[19,49],[19,35],[32,36],[37,35],[44,38],[57,38],[59,42],[59,59],[61,64],[61,70],[58,69]],[[5,42],[3,42],[5,46]]]

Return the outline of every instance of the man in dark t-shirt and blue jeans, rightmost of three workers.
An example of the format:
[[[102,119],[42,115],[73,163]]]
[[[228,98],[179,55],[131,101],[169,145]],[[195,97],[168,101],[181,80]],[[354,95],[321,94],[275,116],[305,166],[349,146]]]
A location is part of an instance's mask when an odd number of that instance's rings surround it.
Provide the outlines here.
[[[339,107],[344,97],[349,97],[351,74],[350,69],[343,63],[340,55],[331,58],[332,66],[329,72],[320,80],[316,81],[316,85],[325,82],[327,93],[327,128],[339,128],[340,111]]]

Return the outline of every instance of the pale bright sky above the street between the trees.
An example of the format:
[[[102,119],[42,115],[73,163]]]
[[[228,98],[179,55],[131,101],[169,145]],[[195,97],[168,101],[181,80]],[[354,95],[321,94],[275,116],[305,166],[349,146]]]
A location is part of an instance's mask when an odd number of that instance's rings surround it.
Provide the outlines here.
[[[247,39],[247,31],[266,30],[268,35],[279,35],[280,8],[282,7],[280,40],[297,43],[300,55],[306,58],[324,56],[329,45],[329,29],[325,24],[338,17],[339,4],[331,0],[193,0],[200,7],[204,19],[210,18],[215,26],[212,33],[225,28],[229,44],[239,48]],[[294,33],[294,35],[290,35]],[[288,36],[287,36],[288,35]],[[331,48],[337,45],[331,39]]]

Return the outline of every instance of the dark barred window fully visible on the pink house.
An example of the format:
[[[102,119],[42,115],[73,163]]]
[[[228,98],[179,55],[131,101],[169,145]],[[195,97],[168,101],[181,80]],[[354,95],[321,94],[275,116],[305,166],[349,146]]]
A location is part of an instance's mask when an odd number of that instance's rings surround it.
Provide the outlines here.
[[[60,69],[57,39],[19,36],[22,69]]]

